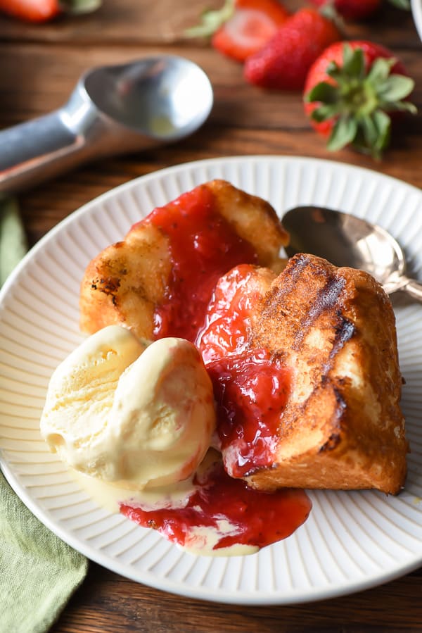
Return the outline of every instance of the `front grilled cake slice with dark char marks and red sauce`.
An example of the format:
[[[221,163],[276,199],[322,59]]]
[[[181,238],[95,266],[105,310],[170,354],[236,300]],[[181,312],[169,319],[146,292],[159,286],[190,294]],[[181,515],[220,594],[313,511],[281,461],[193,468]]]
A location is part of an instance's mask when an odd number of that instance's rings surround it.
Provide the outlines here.
[[[306,254],[279,276],[238,267],[198,345],[229,475],[268,491],[403,487],[395,316],[371,275]]]

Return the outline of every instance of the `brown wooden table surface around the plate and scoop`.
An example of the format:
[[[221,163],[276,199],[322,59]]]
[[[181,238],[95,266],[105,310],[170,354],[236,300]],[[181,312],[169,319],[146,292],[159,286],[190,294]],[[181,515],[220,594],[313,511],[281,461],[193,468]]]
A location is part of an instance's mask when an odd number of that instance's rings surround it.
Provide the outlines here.
[[[243,80],[241,65],[201,42],[186,42],[205,0],[104,0],[84,18],[26,25],[0,18],[0,127],[20,123],[64,103],[82,70],[166,51],[199,63],[215,90],[207,123],[193,136],[134,156],[79,168],[20,195],[30,244],[83,203],[154,170],[217,156],[276,154],[335,158],[422,187],[422,44],[411,15],[385,7],[366,24],[345,26],[348,38],[389,46],[416,79],[421,114],[404,123],[383,162],[352,151],[334,156],[310,129],[300,94],[265,93]],[[301,2],[287,1],[290,8]],[[82,587],[54,625],[54,633],[422,631],[422,570],[375,589],[299,606],[243,607],[190,600],[136,584],[90,563]]]

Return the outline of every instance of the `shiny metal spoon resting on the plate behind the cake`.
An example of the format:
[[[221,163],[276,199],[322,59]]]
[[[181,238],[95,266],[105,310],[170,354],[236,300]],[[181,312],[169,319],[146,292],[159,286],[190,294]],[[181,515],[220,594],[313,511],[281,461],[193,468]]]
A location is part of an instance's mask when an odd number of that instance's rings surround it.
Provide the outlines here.
[[[336,266],[370,272],[392,294],[404,290],[422,301],[422,284],[406,275],[404,253],[383,228],[348,213],[316,206],[293,208],[282,218],[290,233],[288,256],[312,253]]]

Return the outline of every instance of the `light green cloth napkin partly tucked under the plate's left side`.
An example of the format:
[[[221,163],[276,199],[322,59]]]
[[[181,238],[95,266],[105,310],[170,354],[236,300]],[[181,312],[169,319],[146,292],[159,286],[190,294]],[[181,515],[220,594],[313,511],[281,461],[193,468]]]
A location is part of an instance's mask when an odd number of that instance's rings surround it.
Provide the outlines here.
[[[0,283],[26,250],[18,205],[0,200]],[[0,633],[43,633],[87,574],[87,559],[27,509],[0,473]]]

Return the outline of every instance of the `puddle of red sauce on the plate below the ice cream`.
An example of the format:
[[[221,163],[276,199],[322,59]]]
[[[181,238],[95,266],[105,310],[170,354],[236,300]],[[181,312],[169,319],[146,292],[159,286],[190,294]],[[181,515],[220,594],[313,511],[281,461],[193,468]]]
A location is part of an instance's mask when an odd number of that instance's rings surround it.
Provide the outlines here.
[[[153,527],[181,546],[191,541],[195,527],[209,527],[219,539],[213,549],[232,545],[259,548],[288,537],[306,520],[311,502],[302,490],[283,489],[274,493],[251,489],[243,480],[226,475],[215,462],[194,480],[196,490],[184,508],[145,510],[122,504],[121,512],[143,527]],[[234,529],[222,534],[218,522],[227,520]]]

